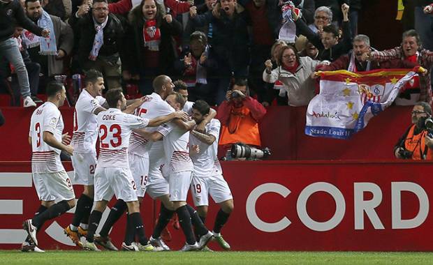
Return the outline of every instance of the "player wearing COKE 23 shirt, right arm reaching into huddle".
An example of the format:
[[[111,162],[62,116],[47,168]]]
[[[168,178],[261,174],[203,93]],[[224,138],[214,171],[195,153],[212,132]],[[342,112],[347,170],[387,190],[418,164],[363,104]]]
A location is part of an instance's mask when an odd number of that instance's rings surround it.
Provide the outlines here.
[[[129,138],[134,129],[159,126],[172,119],[182,118],[183,113],[174,112],[152,120],[142,119],[139,116],[122,112],[121,109],[126,107],[126,99],[122,89],[111,89],[105,97],[110,109],[100,112],[96,118],[100,143],[100,156],[94,179],[96,206],[89,218],[87,242],[83,244],[83,248],[98,250],[94,243],[94,234],[105,206],[112,195],[116,195],[117,199],[122,199],[128,206],[128,225],[138,235],[140,245],[147,250],[152,250],[153,247],[145,236],[140,206],[135,192],[138,183],[133,180],[129,169]],[[138,250],[138,246],[134,245],[132,241],[122,243],[122,248]]]

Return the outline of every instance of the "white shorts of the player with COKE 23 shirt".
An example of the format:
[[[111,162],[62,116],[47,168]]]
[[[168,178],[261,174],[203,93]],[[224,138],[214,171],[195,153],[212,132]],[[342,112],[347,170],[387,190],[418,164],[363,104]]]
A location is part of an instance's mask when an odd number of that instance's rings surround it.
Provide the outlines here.
[[[112,195],[124,202],[137,201],[137,185],[129,168],[96,167],[95,202],[110,201]]]

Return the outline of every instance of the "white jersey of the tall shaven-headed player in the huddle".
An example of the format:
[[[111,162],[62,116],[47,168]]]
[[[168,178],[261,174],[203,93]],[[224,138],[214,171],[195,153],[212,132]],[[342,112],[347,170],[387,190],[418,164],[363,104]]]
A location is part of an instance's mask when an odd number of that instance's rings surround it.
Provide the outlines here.
[[[142,105],[135,110],[135,115],[140,116],[144,119],[154,119],[159,116],[168,115],[175,112],[175,109],[168,105],[165,100],[157,93],[152,93],[146,96],[146,100]],[[149,132],[153,132],[156,128],[147,128]],[[133,132],[129,143],[129,153],[133,153],[138,156],[145,156],[145,153],[152,148],[152,141],[148,141],[144,137],[141,137],[137,133]],[[156,151],[163,152],[162,144],[156,144]]]

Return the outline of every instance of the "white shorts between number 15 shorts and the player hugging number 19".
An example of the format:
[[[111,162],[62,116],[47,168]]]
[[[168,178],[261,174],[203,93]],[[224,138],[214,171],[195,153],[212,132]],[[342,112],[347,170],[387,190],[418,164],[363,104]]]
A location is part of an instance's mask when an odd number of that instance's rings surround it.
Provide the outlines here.
[[[152,156],[152,153],[149,153],[149,156]],[[156,199],[168,195],[170,191],[168,190],[168,181],[163,177],[161,171],[164,157],[153,156],[151,158],[151,163],[149,164],[149,177],[145,179],[144,185],[146,193],[152,197],[152,199]]]

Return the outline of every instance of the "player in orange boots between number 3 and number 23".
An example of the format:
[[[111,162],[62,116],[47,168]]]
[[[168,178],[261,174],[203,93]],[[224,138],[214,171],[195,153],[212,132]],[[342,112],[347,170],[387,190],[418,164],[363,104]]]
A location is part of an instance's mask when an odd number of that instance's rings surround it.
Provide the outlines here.
[[[93,206],[94,172],[96,169],[96,140],[98,138],[96,115],[108,105],[101,96],[104,79],[98,70],[89,70],[85,75],[85,89],[82,90],[75,104],[72,145],[74,156],[74,184],[84,185],[84,191],[78,199],[77,208],[71,225],[64,229],[75,245],[82,247],[80,236],[87,235],[88,220]],[[139,100],[129,100],[124,112],[132,113],[140,104]],[[114,245],[112,246],[114,247]],[[112,250],[117,250],[115,247]]]

